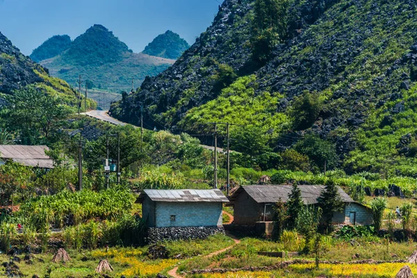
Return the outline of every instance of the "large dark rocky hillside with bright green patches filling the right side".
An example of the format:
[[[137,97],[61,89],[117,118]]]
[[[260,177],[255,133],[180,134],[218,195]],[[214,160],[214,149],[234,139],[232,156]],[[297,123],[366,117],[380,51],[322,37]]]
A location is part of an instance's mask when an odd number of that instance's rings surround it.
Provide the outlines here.
[[[288,6],[286,22],[277,19],[270,34],[256,30],[255,2],[224,1],[177,63],[115,104],[113,115],[135,122],[143,104],[149,125],[192,133],[234,122],[232,147],[250,154],[241,142],[265,142],[263,164],[290,167],[283,160],[291,151],[322,170],[297,147],[311,145],[312,134],[332,144],[331,167],[416,176],[416,3],[277,1]],[[256,47],[270,54],[256,56]]]

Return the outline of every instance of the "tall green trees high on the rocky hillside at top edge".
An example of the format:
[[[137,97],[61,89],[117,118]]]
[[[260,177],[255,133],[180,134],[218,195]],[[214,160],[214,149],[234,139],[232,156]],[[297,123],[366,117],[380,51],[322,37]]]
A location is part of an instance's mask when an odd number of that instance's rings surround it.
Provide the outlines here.
[[[280,40],[288,22],[288,0],[256,0],[252,21],[252,54],[255,60],[266,60]]]

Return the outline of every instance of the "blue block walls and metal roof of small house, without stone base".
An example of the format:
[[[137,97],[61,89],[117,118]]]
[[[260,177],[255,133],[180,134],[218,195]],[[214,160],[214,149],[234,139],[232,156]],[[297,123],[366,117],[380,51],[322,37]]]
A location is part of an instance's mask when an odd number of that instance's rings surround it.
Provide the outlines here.
[[[139,196],[142,218],[148,227],[222,226],[222,191],[145,189]]]

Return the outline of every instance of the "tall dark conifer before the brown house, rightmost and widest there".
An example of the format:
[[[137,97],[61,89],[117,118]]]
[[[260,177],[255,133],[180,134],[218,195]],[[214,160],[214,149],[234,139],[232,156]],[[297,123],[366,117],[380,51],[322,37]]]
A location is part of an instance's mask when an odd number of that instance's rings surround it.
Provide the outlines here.
[[[333,214],[343,211],[344,203],[341,195],[338,193],[338,187],[333,183],[328,184],[317,200],[318,206],[322,208],[323,218],[328,231],[332,224]]]

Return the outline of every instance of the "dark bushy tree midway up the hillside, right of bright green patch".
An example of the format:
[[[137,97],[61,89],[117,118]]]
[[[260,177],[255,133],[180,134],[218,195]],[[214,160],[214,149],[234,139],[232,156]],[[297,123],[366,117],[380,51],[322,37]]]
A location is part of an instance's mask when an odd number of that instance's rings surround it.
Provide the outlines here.
[[[322,111],[322,100],[318,93],[304,91],[300,97],[295,98],[293,109],[290,111],[294,129],[309,128],[316,121],[320,111]]]

